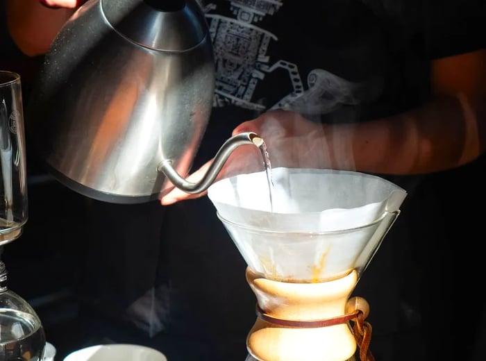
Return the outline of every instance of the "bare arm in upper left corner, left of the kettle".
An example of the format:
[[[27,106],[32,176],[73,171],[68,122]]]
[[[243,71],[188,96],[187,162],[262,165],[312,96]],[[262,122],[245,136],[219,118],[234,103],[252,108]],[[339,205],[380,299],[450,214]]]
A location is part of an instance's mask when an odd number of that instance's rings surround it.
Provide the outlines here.
[[[73,12],[67,8],[47,8],[39,0],[6,0],[8,31],[27,56],[46,53]]]

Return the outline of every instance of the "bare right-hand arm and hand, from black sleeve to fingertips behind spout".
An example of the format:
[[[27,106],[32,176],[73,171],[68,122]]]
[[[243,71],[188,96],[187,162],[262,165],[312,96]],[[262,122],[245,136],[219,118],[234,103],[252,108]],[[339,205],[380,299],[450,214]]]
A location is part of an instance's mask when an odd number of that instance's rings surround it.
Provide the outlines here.
[[[276,110],[245,121],[233,134],[260,134],[276,167],[401,175],[460,167],[486,150],[486,50],[433,61],[430,81],[434,97],[429,103],[393,117],[320,125]],[[198,181],[209,165],[188,179]],[[258,154],[244,146],[233,153],[218,178],[261,170]],[[162,196],[161,203],[202,195],[174,189]]]

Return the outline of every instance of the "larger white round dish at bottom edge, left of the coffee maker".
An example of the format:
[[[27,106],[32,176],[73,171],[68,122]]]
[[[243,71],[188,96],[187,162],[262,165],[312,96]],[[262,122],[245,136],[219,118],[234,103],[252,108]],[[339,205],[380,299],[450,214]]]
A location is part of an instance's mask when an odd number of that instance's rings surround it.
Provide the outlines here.
[[[167,361],[165,355],[150,347],[135,344],[106,344],[69,353],[64,361]]]

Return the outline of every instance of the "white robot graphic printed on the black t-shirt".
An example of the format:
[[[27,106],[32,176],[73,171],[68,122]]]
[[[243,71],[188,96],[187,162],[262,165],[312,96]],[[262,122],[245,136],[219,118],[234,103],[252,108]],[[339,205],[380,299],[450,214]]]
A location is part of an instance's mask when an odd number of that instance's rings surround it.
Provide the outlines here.
[[[357,104],[359,85],[346,81],[324,69],[307,75],[304,88],[298,67],[285,59],[270,63],[267,49],[278,37],[258,23],[271,17],[283,6],[275,0],[228,0],[233,17],[212,13],[217,4],[208,3],[206,18],[215,51],[216,87],[214,106],[227,104],[257,111],[266,108],[292,109],[314,114],[332,112],[341,104]],[[282,94],[275,104],[261,104],[253,94],[265,76],[284,69],[292,91]]]

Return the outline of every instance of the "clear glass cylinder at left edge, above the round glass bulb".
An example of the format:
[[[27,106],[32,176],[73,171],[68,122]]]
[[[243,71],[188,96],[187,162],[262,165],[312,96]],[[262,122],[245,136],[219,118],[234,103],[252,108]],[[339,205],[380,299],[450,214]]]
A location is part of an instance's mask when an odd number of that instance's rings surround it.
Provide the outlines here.
[[[0,246],[22,235],[28,217],[20,76],[0,71]]]

